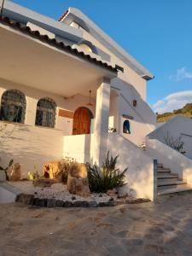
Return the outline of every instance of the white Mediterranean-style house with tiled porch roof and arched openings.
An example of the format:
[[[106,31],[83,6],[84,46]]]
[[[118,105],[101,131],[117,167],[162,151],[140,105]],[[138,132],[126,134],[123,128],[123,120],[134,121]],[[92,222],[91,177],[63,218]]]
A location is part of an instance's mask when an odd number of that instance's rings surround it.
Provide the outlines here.
[[[146,102],[154,75],[79,9],[69,8],[57,21],[6,1],[0,56],[3,166],[13,158],[23,176],[66,156],[101,166],[110,150],[119,154],[119,167],[129,167],[127,189],[137,196],[190,188],[192,148],[187,157],[168,147],[162,130],[174,124],[156,129]],[[192,142],[191,129],[182,129],[179,135]],[[154,159],[175,176],[156,168]]]

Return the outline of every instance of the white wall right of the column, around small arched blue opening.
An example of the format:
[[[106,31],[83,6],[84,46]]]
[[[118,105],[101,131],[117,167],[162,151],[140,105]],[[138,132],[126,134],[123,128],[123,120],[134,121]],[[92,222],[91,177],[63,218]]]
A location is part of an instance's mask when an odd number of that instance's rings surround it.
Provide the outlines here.
[[[156,115],[131,84],[125,83],[118,78],[112,80],[112,86],[118,89],[118,96],[115,97],[115,102],[119,102],[117,104],[119,107],[113,108],[114,123],[115,125],[119,123],[119,126],[114,127],[132,143],[137,145],[144,143],[145,137],[149,132],[154,131],[156,127]],[[133,106],[134,99],[137,100],[137,107]],[[111,104],[113,105],[113,102]],[[123,123],[125,121],[123,114],[133,118],[129,119],[131,134],[123,133]]]

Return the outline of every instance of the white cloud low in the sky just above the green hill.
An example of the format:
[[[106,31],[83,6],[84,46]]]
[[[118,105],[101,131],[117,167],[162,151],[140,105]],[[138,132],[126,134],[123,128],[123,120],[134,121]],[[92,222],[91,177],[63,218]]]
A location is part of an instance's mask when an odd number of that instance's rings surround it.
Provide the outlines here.
[[[183,90],[157,101],[152,108],[155,113],[172,112],[175,109],[183,108],[185,104],[190,102],[192,102],[192,90]]]

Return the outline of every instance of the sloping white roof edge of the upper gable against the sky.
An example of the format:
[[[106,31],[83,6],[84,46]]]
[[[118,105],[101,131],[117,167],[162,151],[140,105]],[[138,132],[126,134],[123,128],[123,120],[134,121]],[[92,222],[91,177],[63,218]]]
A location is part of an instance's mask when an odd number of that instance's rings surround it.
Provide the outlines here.
[[[154,79],[154,75],[148,71],[147,68],[143,67],[134,57],[129,55],[125,49],[121,48],[119,44],[113,41],[99,26],[84,15],[79,9],[70,7],[65,15],[62,15],[59,19],[61,23],[67,25],[71,24],[74,20],[79,23],[87,32],[96,38],[101,44],[108,48],[114,55],[118,56],[121,61],[124,61],[131,69],[133,69],[143,79],[149,80]]]

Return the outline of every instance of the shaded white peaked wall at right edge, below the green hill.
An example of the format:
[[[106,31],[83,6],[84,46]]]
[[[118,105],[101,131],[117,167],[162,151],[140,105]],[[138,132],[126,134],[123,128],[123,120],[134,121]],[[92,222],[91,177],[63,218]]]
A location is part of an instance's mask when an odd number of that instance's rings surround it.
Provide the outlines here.
[[[166,143],[165,137],[167,136],[177,139],[181,137],[184,142],[183,150],[186,151],[186,156],[192,159],[192,119],[178,115],[169,120],[167,123],[160,125],[155,131],[148,135],[149,138],[159,140],[161,143]]]

